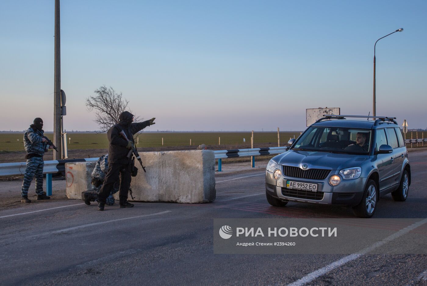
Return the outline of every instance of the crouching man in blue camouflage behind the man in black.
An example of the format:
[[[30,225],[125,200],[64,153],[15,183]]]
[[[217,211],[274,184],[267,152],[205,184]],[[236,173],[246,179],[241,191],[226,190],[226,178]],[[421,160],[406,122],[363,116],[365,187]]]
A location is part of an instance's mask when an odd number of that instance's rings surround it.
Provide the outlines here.
[[[92,172],[92,190],[82,192],[82,200],[85,204],[90,205],[91,201],[97,201],[99,191],[101,190],[102,183],[104,182],[105,174],[108,172],[108,154],[99,157],[94,171]],[[114,183],[113,190],[107,197],[105,204],[112,206],[114,204],[113,195],[119,191],[120,181]]]

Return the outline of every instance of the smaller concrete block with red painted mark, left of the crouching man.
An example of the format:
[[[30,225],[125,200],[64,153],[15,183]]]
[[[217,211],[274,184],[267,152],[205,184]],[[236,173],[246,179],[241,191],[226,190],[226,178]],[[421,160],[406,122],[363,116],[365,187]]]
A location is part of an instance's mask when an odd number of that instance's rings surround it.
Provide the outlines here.
[[[91,190],[92,171],[97,162],[65,163],[65,193],[67,198],[81,199],[82,192]]]

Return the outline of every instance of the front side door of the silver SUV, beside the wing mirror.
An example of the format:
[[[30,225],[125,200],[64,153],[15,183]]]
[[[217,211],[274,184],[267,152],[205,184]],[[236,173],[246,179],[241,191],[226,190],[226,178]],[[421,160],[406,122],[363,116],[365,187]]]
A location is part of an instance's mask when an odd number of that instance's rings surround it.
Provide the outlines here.
[[[377,129],[375,136],[375,152],[378,152],[381,145],[388,145],[386,130]],[[380,190],[384,190],[391,185],[392,175],[392,153],[390,154],[376,154],[377,156],[377,168],[380,173]]]

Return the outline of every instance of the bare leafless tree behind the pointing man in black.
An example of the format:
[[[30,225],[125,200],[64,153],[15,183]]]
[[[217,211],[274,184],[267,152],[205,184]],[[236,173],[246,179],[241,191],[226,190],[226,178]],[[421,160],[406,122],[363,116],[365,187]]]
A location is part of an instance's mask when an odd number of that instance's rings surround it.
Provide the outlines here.
[[[96,133],[108,131],[110,127],[119,122],[119,115],[123,111],[132,111],[129,109],[129,100],[123,98],[122,93],[117,93],[111,86],[107,88],[102,85],[94,91],[96,95],[89,96],[86,99],[88,111],[95,111],[95,120],[99,126]],[[138,121],[139,116],[134,117]],[[137,135],[137,134],[136,134]]]

